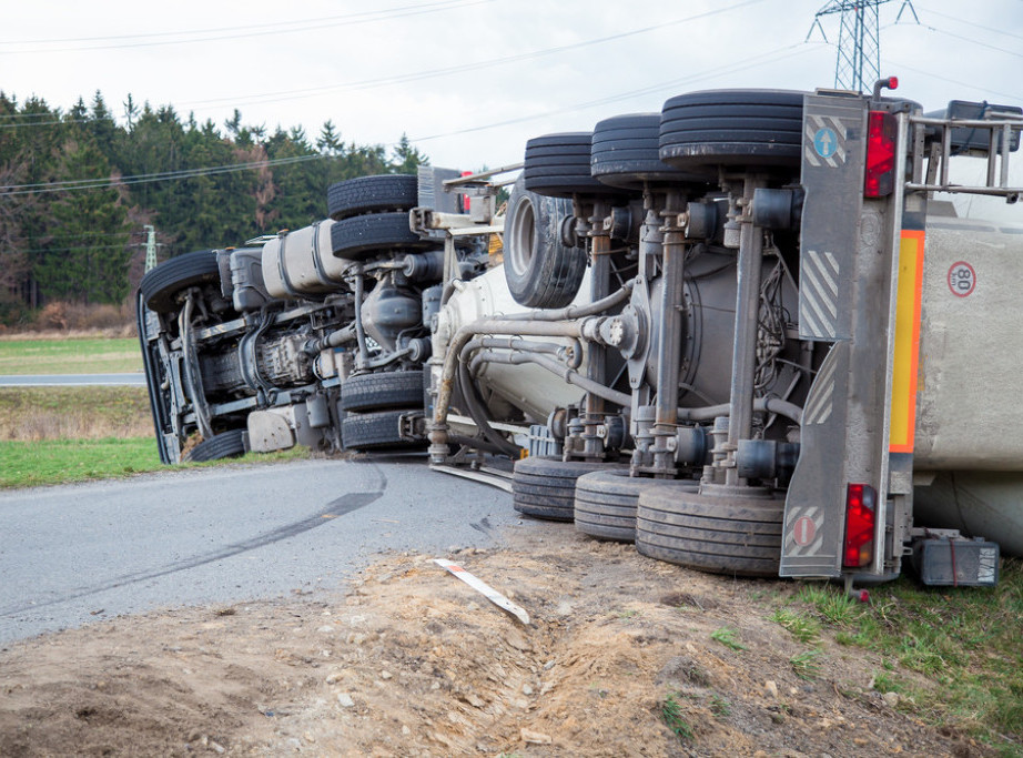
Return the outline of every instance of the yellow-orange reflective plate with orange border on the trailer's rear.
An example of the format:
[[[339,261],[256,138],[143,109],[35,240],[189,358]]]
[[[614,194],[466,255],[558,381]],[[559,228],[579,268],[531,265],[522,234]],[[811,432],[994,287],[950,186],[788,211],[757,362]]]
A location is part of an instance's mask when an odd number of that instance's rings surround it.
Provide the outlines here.
[[[895,348],[892,356],[892,414],[888,445],[891,453],[913,452],[916,429],[916,380],[920,367],[923,243],[923,231],[902,231],[895,301]]]

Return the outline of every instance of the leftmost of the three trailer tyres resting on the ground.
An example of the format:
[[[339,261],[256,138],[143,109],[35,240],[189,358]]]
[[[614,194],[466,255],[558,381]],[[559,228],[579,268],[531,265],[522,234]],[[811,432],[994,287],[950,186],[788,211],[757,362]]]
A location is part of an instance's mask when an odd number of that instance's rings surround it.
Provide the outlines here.
[[[628,464],[566,462],[556,457],[516,461],[512,474],[515,509],[536,518],[570,522],[574,517],[576,479],[608,467],[627,468]]]

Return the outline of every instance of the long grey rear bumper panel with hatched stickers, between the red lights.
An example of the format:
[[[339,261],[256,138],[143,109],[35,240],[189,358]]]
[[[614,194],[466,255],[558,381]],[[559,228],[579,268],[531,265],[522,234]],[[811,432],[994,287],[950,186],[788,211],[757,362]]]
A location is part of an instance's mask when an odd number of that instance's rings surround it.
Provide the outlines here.
[[[868,107],[865,98],[843,94],[804,101],[800,337],[833,344],[803,410],[781,576],[842,575],[850,484],[867,485],[877,497],[869,564],[848,570],[884,573],[903,192],[895,182],[888,198],[863,196]],[[899,133],[897,150],[904,152],[904,123]]]

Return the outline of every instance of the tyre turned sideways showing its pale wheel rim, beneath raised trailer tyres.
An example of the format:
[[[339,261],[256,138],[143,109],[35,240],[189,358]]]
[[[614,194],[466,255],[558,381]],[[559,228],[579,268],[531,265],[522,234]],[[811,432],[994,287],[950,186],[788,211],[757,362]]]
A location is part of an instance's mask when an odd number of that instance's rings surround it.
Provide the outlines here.
[[[505,281],[515,302],[526,307],[564,307],[586,274],[586,251],[561,240],[571,202],[525,188],[519,176],[505,216]]]

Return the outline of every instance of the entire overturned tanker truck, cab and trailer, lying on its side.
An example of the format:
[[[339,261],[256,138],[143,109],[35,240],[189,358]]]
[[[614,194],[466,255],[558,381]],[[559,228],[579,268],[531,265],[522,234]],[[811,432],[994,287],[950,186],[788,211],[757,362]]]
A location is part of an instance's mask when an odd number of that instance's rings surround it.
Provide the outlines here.
[[[924,114],[893,84],[687,93],[161,264],[139,331],[162,459],[502,456],[517,511],[655,558],[993,585],[1023,555],[1023,225],[948,198],[1017,200],[1023,111]]]

